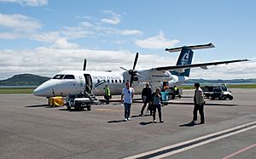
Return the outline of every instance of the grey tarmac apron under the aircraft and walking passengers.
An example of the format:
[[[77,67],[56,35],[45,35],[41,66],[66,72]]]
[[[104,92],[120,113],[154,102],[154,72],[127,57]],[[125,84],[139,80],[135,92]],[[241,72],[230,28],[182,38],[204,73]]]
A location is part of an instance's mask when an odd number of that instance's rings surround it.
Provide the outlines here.
[[[162,108],[164,123],[138,116],[139,101],[123,122],[120,96],[67,111],[32,94],[0,94],[0,158],[254,158],[256,89],[231,91],[233,100],[206,99],[205,124],[189,123],[193,90]]]

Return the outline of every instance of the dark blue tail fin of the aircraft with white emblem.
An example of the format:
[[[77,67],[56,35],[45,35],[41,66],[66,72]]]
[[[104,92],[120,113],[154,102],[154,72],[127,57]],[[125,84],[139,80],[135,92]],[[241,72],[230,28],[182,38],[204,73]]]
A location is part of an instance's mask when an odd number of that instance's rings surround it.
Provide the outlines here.
[[[183,47],[176,65],[190,65],[192,63],[194,52],[191,48]],[[183,72],[171,71],[172,75],[189,77],[190,69],[185,69]]]

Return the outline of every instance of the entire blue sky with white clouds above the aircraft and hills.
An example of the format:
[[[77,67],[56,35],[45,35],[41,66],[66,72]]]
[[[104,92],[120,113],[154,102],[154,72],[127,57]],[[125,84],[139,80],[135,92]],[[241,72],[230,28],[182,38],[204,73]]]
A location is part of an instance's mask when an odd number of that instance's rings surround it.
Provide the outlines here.
[[[249,59],[191,69],[191,78],[256,78],[253,0],[0,0],[0,79],[62,70],[120,71],[176,65],[165,48],[213,43],[193,63]]]

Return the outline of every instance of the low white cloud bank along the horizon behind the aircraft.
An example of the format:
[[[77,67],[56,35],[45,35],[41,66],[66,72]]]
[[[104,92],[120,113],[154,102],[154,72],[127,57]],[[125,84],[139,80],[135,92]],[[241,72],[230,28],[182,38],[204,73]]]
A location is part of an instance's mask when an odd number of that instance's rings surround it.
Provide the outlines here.
[[[67,40],[58,43],[66,43]],[[68,43],[68,42],[67,42]],[[61,45],[60,44],[60,45]],[[95,50],[80,48],[34,48],[0,50],[0,79],[20,73],[32,73],[52,77],[62,70],[82,70],[83,61],[88,61],[87,70],[121,71],[119,66],[131,69],[135,54],[127,50]],[[15,57],[15,58],[14,58]],[[175,65],[176,58],[156,54],[140,54],[137,70],[156,66]],[[249,62],[209,66],[209,69],[191,69],[191,78],[234,79],[256,78],[256,58]]]

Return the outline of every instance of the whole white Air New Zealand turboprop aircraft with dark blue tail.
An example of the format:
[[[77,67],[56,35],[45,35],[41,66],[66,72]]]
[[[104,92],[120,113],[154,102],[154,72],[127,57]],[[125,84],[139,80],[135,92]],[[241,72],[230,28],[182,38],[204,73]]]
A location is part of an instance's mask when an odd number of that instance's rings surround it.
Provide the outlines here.
[[[208,62],[201,64],[191,64],[194,52],[192,49],[214,48],[212,43],[194,46],[183,46],[180,48],[166,48],[168,52],[181,51],[177,59],[177,65],[155,67],[151,69],[136,70],[138,53],[136,54],[133,67],[125,71],[85,71],[86,60],[84,60],[83,71],[61,71],[55,77],[44,82],[33,92],[36,96],[66,97],[71,93],[93,93],[95,95],[103,95],[105,85],[111,90],[111,94],[121,94],[125,82],[130,81],[135,92],[140,94],[144,82],[150,82],[152,87],[162,87],[163,82],[167,82],[168,86],[180,85],[189,80],[190,68],[200,67],[207,69],[207,65],[230,64],[234,62],[242,62],[247,60],[226,60],[218,62]]]

